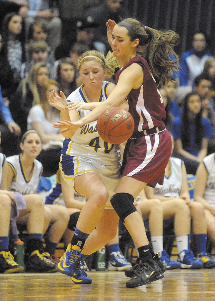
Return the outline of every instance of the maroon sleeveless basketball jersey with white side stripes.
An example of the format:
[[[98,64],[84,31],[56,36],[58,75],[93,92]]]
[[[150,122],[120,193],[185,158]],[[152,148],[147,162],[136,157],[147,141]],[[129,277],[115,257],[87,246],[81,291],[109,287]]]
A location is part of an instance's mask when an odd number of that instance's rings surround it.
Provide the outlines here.
[[[134,118],[134,132],[142,132],[163,125],[166,111],[149,64],[140,55],[133,57],[118,70],[116,82],[118,82],[121,72],[133,63],[137,63],[143,68],[143,84],[140,88],[131,90],[127,96],[127,101],[129,112]]]

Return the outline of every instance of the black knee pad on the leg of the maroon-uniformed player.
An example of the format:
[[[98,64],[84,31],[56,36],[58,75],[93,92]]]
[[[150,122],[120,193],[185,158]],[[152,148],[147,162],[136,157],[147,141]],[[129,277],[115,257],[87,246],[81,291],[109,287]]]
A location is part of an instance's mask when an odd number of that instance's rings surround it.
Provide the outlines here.
[[[134,206],[134,197],[129,193],[116,193],[112,196],[110,202],[122,222],[128,215],[137,211]]]

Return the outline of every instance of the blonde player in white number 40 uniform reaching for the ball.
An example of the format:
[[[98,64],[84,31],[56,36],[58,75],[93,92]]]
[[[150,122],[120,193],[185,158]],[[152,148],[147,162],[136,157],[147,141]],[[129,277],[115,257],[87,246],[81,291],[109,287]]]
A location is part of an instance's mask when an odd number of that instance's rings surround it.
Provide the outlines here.
[[[77,111],[68,111],[63,92],[60,92],[61,98],[54,91],[51,92],[49,103],[61,111],[63,121],[59,122],[60,125],[65,124],[65,120],[78,120],[86,116],[89,109],[94,109],[105,101],[115,87],[113,83],[104,81],[105,74],[112,76],[117,67],[116,60],[109,54],[105,58],[98,51],[88,51],[80,57],[78,66],[83,84],[69,95],[68,100],[87,104],[88,108],[86,110],[84,107],[83,110],[79,105]],[[121,104],[127,108],[126,101],[122,101]],[[91,278],[81,277],[80,273],[77,273],[78,262],[117,235],[119,219],[109,200],[120,179],[120,150],[119,145],[106,143],[100,138],[97,122],[94,121],[77,131],[62,133],[67,138],[63,144],[59,165],[63,178],[69,185],[74,185],[78,194],[84,195],[88,200],[81,210],[75,235],[62,256],[58,269],[71,276],[75,283],[91,283]],[[90,238],[91,233],[93,235]],[[78,254],[77,263],[73,266],[65,265],[65,261],[71,261],[75,254]]]

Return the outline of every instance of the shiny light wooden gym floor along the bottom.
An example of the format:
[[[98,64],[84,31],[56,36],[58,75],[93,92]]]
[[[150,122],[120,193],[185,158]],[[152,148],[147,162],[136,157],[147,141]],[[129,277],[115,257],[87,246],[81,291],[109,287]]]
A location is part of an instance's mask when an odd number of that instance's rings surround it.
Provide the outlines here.
[[[164,278],[126,288],[124,272],[88,272],[92,284],[66,275],[0,274],[0,301],[209,301],[215,300],[215,268],[166,271]]]

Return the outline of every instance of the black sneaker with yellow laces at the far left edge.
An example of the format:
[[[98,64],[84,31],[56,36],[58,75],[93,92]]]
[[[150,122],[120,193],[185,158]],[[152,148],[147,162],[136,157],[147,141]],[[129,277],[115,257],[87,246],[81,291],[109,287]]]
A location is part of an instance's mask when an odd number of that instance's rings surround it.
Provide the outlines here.
[[[0,252],[0,273],[22,273],[24,268],[14,261],[14,256],[8,250]]]

